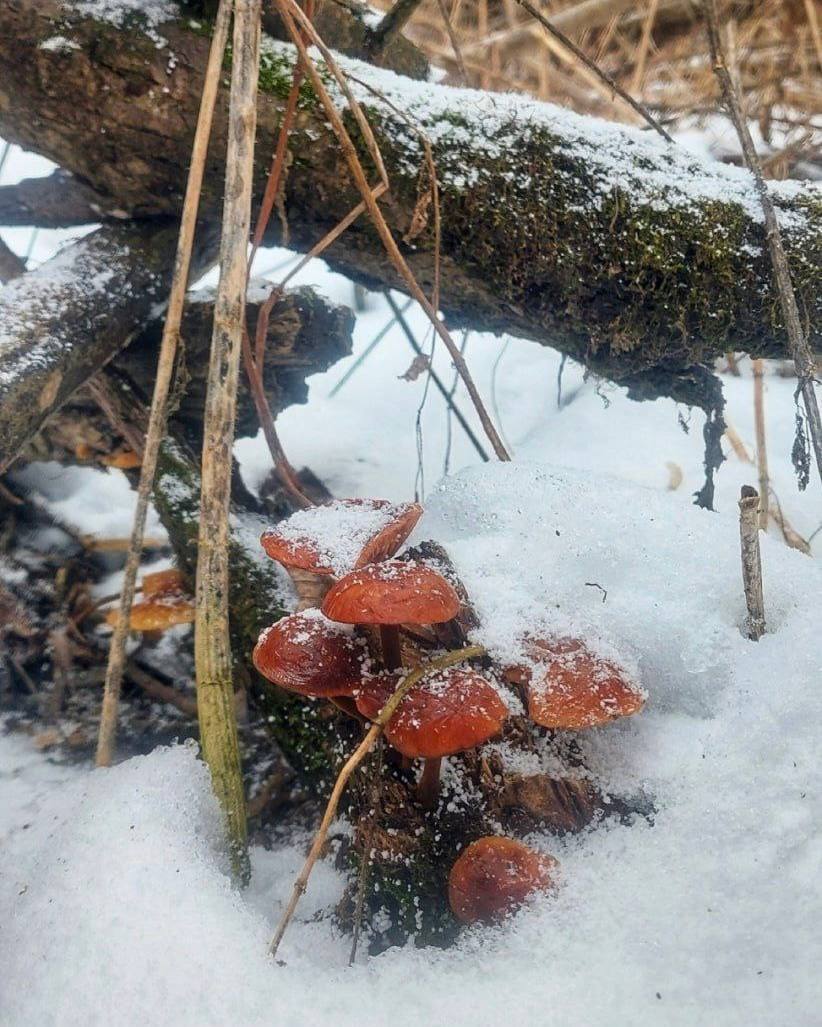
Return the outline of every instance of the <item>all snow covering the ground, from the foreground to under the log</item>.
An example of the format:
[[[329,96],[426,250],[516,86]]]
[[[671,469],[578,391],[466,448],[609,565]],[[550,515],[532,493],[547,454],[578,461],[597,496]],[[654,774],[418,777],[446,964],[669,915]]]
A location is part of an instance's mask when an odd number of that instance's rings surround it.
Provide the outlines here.
[[[259,268],[286,259],[267,251]],[[322,265],[300,280],[351,302],[350,284]],[[190,745],[90,772],[0,731],[0,1021],[818,1023],[822,533],[814,559],[772,525],[768,632],[749,642],[737,498],[741,484],[756,485],[756,468],[723,443],[716,512],[696,508],[701,413],[632,403],[570,362],[558,403],[557,353],[472,334],[469,364],[515,455],[482,466],[435,388],[418,416],[425,375],[400,377],[414,354],[396,326],[331,395],[389,317],[384,299],[367,297],[354,354],[278,418],[290,458],[340,497],[410,499],[416,484],[425,515],[411,541],[447,547],[482,640],[500,656],[518,632],[539,627],[585,634],[636,665],[645,710],[580,741],[603,792],[641,797],[652,816],[530,838],[560,861],[556,892],[448,950],[409,944],[369,957],[363,946],[351,967],[350,941],[328,915],[344,880],[325,860],[273,964],[266,944],[303,831],[255,846],[251,887],[238,893]],[[429,346],[414,308],[408,319]],[[434,366],[450,387],[440,350]],[[740,370],[722,376],[726,413],[753,454],[750,362]],[[795,381],[777,370],[765,379],[772,484],[808,538],[822,522],[822,490],[812,481],[797,491]],[[461,386],[455,402],[478,431]],[[264,446],[245,441],[237,454],[256,488],[269,468]],[[26,484],[84,533],[127,533],[132,497],[119,471],[41,465]]]

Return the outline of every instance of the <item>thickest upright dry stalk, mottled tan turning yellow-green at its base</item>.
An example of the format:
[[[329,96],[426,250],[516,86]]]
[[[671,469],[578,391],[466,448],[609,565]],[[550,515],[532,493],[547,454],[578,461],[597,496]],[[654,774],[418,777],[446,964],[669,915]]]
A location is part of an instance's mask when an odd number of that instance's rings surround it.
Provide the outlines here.
[[[202,755],[226,817],[233,870],[239,879],[247,878],[249,867],[228,636],[228,505],[246,308],[259,64],[260,0],[234,0],[220,281],[202,436],[194,660]]]

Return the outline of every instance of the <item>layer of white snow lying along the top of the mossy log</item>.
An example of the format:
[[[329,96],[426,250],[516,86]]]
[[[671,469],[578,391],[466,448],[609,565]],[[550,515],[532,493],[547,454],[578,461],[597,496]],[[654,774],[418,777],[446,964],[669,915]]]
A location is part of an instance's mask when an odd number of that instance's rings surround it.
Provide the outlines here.
[[[312,55],[325,69],[319,50],[313,49]],[[594,205],[620,189],[638,206],[690,208],[698,202],[715,200],[741,205],[751,221],[763,220],[754,181],[747,169],[704,159],[685,148],[671,146],[653,132],[583,116],[521,93],[438,85],[408,79],[352,58],[334,54],[334,59],[350,76],[348,84],[358,103],[376,112],[379,120],[391,123],[391,144],[408,175],[416,176],[424,160],[420,132],[435,147],[440,142],[447,144],[449,160],[438,160],[438,177],[442,184],[460,190],[476,186],[482,175],[499,175],[496,168],[489,173],[479,167],[477,154],[501,158],[531,138],[554,138],[561,139],[563,153],[577,156],[590,174],[590,201]],[[274,64],[292,62],[294,47],[264,37],[263,63],[266,60]],[[330,79],[331,73],[325,70]],[[327,84],[338,106],[347,106],[336,83]],[[464,164],[457,159],[463,148],[471,155]],[[511,179],[517,174],[512,170]],[[554,168],[553,174],[564,173]],[[527,188],[527,183],[519,185]],[[819,196],[818,187],[799,182],[771,183],[769,188],[777,202]],[[805,222],[801,215],[784,207],[778,206],[777,214],[786,229],[801,227]],[[717,235],[722,232],[717,223]]]

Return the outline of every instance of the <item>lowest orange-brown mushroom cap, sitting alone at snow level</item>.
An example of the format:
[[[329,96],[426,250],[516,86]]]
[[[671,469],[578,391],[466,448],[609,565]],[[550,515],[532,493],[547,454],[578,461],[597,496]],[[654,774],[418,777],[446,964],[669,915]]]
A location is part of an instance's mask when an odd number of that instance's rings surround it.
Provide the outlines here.
[[[551,888],[558,867],[514,838],[480,838],[451,868],[448,902],[463,923],[493,923],[534,891]]]

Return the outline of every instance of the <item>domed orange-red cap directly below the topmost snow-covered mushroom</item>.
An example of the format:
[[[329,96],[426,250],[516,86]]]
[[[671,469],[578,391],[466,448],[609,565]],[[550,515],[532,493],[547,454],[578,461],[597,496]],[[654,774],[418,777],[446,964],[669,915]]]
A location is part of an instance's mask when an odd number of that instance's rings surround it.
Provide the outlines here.
[[[344,624],[437,624],[455,617],[460,606],[453,586],[434,568],[386,560],[340,578],[323,612]]]

